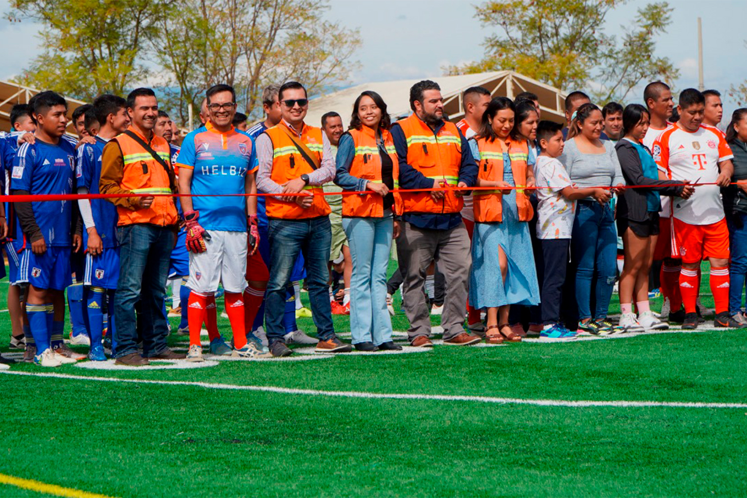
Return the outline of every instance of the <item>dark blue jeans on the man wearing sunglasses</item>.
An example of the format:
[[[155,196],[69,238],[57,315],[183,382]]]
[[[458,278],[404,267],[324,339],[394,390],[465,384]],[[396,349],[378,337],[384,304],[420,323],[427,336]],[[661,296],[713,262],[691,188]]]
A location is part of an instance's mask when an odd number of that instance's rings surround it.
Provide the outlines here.
[[[270,239],[270,281],[267,282],[264,311],[267,323],[267,340],[270,344],[283,340],[282,325],[285,314],[287,287],[291,282],[293,267],[299,253],[306,261],[306,287],[317,337],[327,340],[335,334],[332,327],[332,309],[329,306],[327,281],[329,271],[329,246],[332,245],[332,226],[328,217],[306,220],[270,220],[267,231]]]

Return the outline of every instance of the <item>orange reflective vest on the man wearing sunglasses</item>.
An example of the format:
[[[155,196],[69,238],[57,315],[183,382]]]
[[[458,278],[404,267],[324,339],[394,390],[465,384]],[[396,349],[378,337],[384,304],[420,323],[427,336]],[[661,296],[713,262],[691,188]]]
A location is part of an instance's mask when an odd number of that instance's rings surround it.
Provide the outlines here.
[[[309,162],[303,158],[293,140],[288,137],[285,131],[280,129],[281,126],[290,129],[285,122],[280,122],[278,125],[264,131],[273,143],[273,170],[270,173],[270,178],[279,185],[284,184],[286,181],[299,178],[301,175],[309,175],[314,171]],[[295,137],[298,136],[295,130],[291,129],[290,131]],[[306,145],[311,154],[316,155],[321,163],[323,150],[321,128],[309,126],[304,123],[299,140]],[[303,190],[308,190],[314,195],[314,202],[312,202],[309,208],[304,209],[295,202],[285,202],[275,196],[267,196],[265,198],[267,217],[282,218],[283,220],[300,220],[303,218],[327,216],[332,212],[323,196],[324,190],[321,185],[306,185],[306,187],[303,187]]]

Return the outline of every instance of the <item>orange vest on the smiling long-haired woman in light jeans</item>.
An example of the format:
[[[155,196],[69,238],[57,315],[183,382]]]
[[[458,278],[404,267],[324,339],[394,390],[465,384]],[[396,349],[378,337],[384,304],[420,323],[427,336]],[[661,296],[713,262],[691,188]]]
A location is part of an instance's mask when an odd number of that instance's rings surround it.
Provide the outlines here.
[[[362,126],[360,130],[347,131],[353,137],[356,146],[356,155],[350,164],[350,175],[357,178],[365,178],[374,183],[382,183],[381,155],[376,145],[376,136],[373,128]],[[384,147],[391,159],[391,176],[394,178],[394,188],[399,188],[400,162],[397,159],[397,151],[394,149],[394,140],[388,130],[381,130]],[[394,214],[402,214],[402,198],[399,193],[393,192]],[[377,193],[365,193],[363,195],[348,194],[342,196],[342,216],[381,218],[384,216],[384,198]]]

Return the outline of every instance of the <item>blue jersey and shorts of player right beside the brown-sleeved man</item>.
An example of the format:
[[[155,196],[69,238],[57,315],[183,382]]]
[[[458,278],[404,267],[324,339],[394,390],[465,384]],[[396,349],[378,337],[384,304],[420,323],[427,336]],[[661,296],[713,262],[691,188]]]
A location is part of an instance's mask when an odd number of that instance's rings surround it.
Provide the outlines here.
[[[78,187],[86,187],[90,193],[99,192],[101,178],[101,155],[108,140],[96,137],[93,145],[84,143],[78,149],[78,164],[75,169]],[[90,199],[93,224],[101,237],[104,247],[116,247],[117,240],[117,206],[106,199]],[[83,245],[88,244],[88,231],[83,231]]]

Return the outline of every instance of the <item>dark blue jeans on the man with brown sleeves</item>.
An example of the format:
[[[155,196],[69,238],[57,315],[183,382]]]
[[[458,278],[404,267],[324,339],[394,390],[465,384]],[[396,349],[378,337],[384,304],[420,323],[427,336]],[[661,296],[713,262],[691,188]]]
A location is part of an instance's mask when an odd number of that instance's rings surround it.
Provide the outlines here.
[[[169,334],[164,307],[166,280],[175,233],[171,227],[137,224],[117,228],[120,246],[120,280],[114,294],[117,329],[116,357],[137,352],[135,303],[140,300],[143,323],[143,356],[167,349]]]

